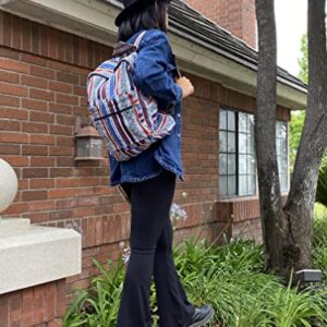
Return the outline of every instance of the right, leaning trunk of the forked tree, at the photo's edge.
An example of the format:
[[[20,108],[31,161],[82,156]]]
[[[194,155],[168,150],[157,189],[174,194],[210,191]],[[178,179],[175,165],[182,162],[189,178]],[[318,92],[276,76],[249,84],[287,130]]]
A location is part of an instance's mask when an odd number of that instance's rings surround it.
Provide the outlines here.
[[[283,208],[289,226],[288,268],[311,267],[312,226],[319,166],[327,146],[326,0],[308,0],[308,96],[291,190]]]

